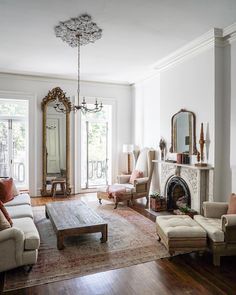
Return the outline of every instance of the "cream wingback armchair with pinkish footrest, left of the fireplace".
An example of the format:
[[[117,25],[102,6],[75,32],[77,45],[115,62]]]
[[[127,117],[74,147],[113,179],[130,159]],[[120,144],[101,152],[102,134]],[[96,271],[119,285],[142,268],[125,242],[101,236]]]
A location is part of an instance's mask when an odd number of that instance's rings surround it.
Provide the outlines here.
[[[102,199],[112,200],[115,202],[115,208],[119,202],[131,201],[138,198],[146,197],[148,200],[150,184],[153,173],[153,162],[155,158],[155,151],[144,148],[139,152],[138,159],[134,170],[141,171],[143,176],[137,178],[133,183],[130,183],[131,175],[118,175],[117,183],[112,185],[112,192],[98,192],[97,198],[101,203]]]

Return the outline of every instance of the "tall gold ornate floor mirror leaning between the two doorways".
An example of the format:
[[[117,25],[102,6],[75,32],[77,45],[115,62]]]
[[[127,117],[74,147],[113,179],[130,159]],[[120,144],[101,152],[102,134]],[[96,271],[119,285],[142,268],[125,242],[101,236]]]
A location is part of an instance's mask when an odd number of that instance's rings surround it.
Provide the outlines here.
[[[57,108],[56,108],[57,106]],[[60,112],[58,112],[58,106]],[[71,102],[60,87],[48,92],[43,112],[42,196],[70,195]],[[57,109],[57,110],[56,110]],[[61,188],[61,189],[60,189]],[[58,190],[59,189],[59,190]]]

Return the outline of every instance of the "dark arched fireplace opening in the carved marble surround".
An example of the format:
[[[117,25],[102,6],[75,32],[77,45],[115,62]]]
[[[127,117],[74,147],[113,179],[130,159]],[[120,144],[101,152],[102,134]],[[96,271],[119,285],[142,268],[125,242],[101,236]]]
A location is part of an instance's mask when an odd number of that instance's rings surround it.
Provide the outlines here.
[[[167,209],[174,210],[180,207],[191,208],[191,196],[187,183],[181,177],[172,177],[167,183]]]

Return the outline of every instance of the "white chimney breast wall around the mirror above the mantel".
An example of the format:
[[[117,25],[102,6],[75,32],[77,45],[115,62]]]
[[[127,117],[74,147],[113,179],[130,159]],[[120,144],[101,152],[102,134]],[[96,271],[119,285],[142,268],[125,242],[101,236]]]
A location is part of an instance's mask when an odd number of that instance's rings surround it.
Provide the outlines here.
[[[171,117],[180,109],[196,115],[196,138],[200,124],[209,124],[214,142],[214,51],[207,49],[160,74],[160,136],[171,144]],[[214,146],[210,146],[209,163],[214,163]]]

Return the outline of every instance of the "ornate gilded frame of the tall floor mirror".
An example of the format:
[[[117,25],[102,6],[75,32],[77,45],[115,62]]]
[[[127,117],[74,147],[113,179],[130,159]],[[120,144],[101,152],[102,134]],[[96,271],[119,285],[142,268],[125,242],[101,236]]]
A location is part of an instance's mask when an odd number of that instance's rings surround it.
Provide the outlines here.
[[[70,112],[71,102],[66,93],[62,91],[60,87],[53,88],[48,92],[48,95],[44,97],[41,103],[41,109],[43,112],[43,173],[42,173],[42,196],[49,196],[51,192],[47,190],[47,109],[50,102],[56,101],[62,103],[65,107],[66,116],[66,194],[70,195]]]

